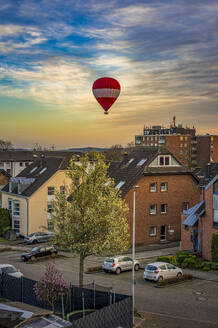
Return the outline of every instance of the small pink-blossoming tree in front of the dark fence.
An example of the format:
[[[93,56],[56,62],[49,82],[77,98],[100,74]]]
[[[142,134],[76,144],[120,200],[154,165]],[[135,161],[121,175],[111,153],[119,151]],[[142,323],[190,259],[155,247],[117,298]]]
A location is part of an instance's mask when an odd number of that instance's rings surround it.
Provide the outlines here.
[[[34,285],[36,297],[40,301],[48,303],[53,312],[55,303],[68,289],[69,286],[63,279],[62,273],[52,263],[46,265],[44,276]]]

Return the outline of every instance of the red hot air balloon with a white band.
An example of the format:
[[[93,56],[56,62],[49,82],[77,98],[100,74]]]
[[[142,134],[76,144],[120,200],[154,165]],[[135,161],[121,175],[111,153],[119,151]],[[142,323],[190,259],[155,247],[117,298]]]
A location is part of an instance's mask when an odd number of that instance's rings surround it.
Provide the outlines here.
[[[92,92],[103,107],[104,114],[108,114],[109,108],[119,97],[120,83],[112,77],[101,77],[93,83]]]

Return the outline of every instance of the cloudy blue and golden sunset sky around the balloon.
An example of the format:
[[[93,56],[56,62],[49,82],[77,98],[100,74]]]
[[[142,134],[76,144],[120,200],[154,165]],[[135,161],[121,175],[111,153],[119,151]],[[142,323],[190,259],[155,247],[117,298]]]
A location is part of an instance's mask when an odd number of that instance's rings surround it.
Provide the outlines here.
[[[218,134],[218,0],[0,0],[0,139],[126,145],[143,126]],[[121,93],[104,115],[103,76]]]

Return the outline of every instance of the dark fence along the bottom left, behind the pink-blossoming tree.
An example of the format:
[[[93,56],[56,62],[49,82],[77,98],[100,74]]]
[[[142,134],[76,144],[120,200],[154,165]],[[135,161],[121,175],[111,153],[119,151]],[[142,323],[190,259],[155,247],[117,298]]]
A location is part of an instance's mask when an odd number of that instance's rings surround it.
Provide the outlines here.
[[[7,274],[0,276],[0,295],[11,301],[18,301],[51,310],[48,304],[40,302],[35,295],[36,281],[26,277],[16,278]],[[84,288],[70,286],[69,292],[63,295],[55,305],[55,312],[67,314],[79,311],[81,319],[72,322],[75,328],[114,328],[131,327],[131,305],[129,296],[116,294],[112,288],[92,284]],[[86,310],[98,310],[88,315],[86,324]],[[85,317],[84,317],[85,316]],[[92,322],[92,323],[91,323]]]

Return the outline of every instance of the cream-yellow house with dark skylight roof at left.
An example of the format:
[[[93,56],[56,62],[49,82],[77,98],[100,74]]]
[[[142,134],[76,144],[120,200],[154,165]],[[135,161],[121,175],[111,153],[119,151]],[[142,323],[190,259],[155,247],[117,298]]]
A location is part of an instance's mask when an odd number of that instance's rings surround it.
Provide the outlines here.
[[[12,229],[26,236],[47,227],[52,230],[51,211],[55,191],[64,192],[68,157],[43,157],[11,178],[2,189],[2,207],[8,208]]]

